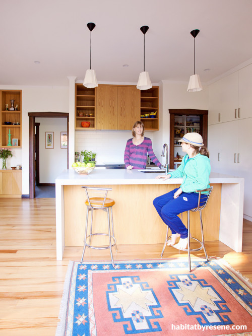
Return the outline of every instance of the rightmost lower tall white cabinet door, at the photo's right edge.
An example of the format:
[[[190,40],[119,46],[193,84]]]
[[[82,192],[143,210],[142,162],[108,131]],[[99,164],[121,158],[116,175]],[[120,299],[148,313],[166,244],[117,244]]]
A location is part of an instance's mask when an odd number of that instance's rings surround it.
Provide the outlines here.
[[[252,150],[247,137],[251,131],[252,118],[238,120],[235,124],[239,125],[237,175],[244,178],[243,214],[252,217]]]

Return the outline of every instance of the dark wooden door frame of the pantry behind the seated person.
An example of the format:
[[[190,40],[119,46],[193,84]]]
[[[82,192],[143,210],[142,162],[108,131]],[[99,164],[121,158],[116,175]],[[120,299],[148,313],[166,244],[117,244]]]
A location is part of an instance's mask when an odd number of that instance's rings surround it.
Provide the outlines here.
[[[200,133],[202,134],[204,145],[207,147],[207,128],[208,128],[208,110],[197,110],[192,108],[173,108],[169,109],[170,113],[170,161],[172,169],[174,166],[174,115],[199,115],[200,116]]]

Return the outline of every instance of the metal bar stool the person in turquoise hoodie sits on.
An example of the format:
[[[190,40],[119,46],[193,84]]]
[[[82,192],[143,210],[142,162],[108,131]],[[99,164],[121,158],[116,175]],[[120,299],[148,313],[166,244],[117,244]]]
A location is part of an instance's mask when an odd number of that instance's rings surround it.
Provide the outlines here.
[[[199,192],[198,206],[197,206],[197,208],[194,208],[194,209],[191,209],[191,210],[187,211],[188,243],[187,243],[187,248],[184,249],[184,250],[181,250],[181,251],[187,251],[187,253],[188,253],[189,272],[191,272],[191,252],[196,252],[196,251],[200,251],[200,250],[204,249],[206,259],[207,259],[207,261],[209,260],[208,255],[207,255],[207,251],[206,251],[206,247],[205,247],[205,240],[204,240],[204,233],[203,233],[203,223],[202,223],[202,213],[201,212],[202,212],[203,209],[205,209],[212,190],[213,190],[213,187],[210,187],[210,188],[207,188],[207,189],[204,189],[204,190],[196,190],[196,192]],[[192,212],[199,211],[199,213],[200,213],[202,241],[200,241],[197,238],[191,237],[190,211],[192,211]],[[181,214],[181,220],[182,220],[182,214]],[[161,252],[161,257],[163,256],[165,246],[167,245],[167,242],[171,237],[171,236],[168,237],[168,230],[169,230],[169,227],[167,226],[166,239],[165,239],[165,243],[164,243],[164,246],[163,246],[163,250]],[[201,246],[199,248],[190,248],[190,238],[198,241]]]

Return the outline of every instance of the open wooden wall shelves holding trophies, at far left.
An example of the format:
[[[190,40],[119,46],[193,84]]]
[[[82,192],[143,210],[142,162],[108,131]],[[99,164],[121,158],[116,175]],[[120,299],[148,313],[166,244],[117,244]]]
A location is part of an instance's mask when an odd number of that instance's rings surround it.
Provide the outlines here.
[[[12,147],[8,146],[9,130],[11,134],[11,144],[12,139],[18,139],[17,147],[21,147],[22,90],[0,90],[0,93],[0,147]],[[14,101],[14,110],[12,110],[12,100]],[[9,124],[6,124],[7,122]]]

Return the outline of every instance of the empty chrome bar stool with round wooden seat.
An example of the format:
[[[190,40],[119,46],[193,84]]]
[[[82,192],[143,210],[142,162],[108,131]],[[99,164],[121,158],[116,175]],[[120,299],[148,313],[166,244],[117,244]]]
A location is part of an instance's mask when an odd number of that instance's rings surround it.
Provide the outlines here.
[[[82,251],[82,257],[81,257],[81,263],[84,257],[86,246],[90,248],[94,248],[97,250],[103,250],[109,248],[110,255],[111,255],[111,261],[112,266],[114,267],[114,260],[113,260],[113,254],[112,254],[112,247],[115,246],[116,248],[116,239],[114,237],[114,225],[113,225],[113,215],[112,215],[112,206],[115,204],[115,201],[112,198],[107,198],[107,193],[109,190],[112,190],[112,188],[98,188],[98,187],[87,187],[82,186],[82,188],[85,189],[87,199],[85,200],[85,205],[87,206],[87,216],[86,216],[86,227],[85,227],[85,238],[84,238],[84,247]],[[92,197],[90,193],[92,194]],[[98,196],[96,196],[98,195]],[[94,196],[94,197],[93,197]],[[111,214],[111,223],[110,223],[110,216],[109,216],[109,209]],[[92,232],[92,226],[93,226],[93,211],[94,210],[103,210],[107,212],[107,219],[108,219],[108,233],[93,233]],[[90,234],[87,235],[88,230],[88,215],[91,211],[91,223],[90,223]],[[112,229],[112,235],[111,235],[111,229]],[[108,236],[109,245],[106,246],[93,246],[91,245],[91,238],[93,236]],[[89,238],[89,243],[87,244],[87,238]],[[111,242],[111,239],[113,239],[113,242]],[[116,248],[117,251],[117,248]]]

